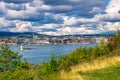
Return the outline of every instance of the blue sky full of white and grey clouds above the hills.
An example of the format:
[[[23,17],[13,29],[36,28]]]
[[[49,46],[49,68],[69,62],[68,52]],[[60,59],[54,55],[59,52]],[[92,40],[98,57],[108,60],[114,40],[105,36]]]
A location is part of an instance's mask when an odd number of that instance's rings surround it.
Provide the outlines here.
[[[47,35],[120,29],[120,0],[0,0],[0,31]]]

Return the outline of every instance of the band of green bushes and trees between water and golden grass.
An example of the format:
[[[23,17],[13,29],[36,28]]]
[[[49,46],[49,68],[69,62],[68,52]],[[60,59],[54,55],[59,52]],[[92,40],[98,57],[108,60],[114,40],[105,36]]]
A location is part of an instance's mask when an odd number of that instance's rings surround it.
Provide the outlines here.
[[[0,50],[0,80],[59,80],[61,70],[70,71],[71,66],[102,56],[120,55],[120,31],[109,38],[108,43],[101,41],[95,47],[80,47],[70,54],[56,57],[48,62],[32,65],[21,62],[21,55],[5,45]],[[118,52],[115,52],[118,51]]]

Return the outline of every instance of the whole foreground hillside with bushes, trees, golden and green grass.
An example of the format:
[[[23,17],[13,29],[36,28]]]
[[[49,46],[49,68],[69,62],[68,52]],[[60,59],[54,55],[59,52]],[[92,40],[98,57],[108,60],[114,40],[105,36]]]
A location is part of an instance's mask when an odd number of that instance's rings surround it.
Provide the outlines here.
[[[79,47],[32,65],[9,47],[0,50],[0,80],[120,80],[120,31],[95,47]],[[24,75],[23,75],[24,74]]]

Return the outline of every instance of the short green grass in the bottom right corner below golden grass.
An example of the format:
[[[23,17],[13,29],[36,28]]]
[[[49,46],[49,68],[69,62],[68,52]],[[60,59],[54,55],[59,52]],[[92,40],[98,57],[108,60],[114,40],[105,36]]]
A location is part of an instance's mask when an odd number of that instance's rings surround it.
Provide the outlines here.
[[[120,64],[83,74],[84,80],[120,80]]]

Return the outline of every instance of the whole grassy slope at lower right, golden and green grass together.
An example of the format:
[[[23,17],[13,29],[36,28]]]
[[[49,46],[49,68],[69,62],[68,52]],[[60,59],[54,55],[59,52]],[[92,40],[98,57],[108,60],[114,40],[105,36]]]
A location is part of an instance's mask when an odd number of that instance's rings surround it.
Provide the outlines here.
[[[60,80],[120,80],[120,56],[102,57],[61,71]]]

